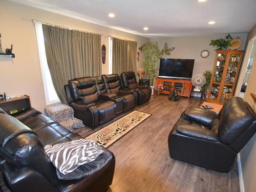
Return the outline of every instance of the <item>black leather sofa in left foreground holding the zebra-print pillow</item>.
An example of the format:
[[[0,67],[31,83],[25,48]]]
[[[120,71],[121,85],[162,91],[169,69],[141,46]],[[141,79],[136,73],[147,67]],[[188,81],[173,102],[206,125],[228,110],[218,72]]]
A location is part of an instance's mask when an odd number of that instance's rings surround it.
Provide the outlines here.
[[[112,159],[95,173],[77,180],[59,180],[44,146],[81,137],[32,108],[13,116],[0,108],[0,168],[11,191],[106,191],[109,188],[115,169],[113,153],[103,149]]]

